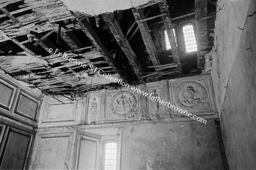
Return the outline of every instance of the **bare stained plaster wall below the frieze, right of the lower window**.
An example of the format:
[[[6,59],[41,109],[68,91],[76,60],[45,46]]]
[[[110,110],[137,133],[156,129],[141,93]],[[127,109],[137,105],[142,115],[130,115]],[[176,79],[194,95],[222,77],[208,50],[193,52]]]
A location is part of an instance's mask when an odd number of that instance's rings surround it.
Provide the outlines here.
[[[223,170],[213,120],[126,125],[122,170]]]

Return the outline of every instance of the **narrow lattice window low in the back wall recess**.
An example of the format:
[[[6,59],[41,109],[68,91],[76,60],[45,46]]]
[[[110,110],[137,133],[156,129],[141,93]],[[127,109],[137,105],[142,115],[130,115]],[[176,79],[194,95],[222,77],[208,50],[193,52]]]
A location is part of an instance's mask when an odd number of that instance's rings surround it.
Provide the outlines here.
[[[104,170],[116,170],[116,142],[105,144]]]

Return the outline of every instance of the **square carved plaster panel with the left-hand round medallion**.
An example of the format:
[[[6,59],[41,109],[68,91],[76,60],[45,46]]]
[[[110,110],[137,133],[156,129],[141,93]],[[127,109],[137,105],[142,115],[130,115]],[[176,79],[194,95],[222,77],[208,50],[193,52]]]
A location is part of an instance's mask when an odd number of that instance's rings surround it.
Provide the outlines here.
[[[107,93],[108,121],[140,119],[136,92],[124,89],[107,91]]]

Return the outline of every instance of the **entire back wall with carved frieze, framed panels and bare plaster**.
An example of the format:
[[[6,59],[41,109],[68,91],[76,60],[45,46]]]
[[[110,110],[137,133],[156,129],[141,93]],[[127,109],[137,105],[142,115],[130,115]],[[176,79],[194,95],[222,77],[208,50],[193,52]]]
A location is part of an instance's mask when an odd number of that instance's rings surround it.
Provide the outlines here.
[[[183,99],[188,86],[197,92],[193,104]],[[84,94],[73,100],[55,96],[62,102],[48,96],[42,105],[29,169],[102,169],[104,142],[108,140],[118,144],[117,169],[223,169],[209,75],[138,88],[184,105],[192,114],[207,119],[207,124],[163,105],[154,107],[145,96],[124,88],[92,91],[89,98]]]

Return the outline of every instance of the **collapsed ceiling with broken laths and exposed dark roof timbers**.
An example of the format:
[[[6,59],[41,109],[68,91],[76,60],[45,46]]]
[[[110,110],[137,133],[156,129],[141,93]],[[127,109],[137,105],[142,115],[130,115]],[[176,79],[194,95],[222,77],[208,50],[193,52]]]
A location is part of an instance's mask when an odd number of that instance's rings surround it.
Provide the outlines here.
[[[215,9],[215,2],[126,0],[113,6],[109,0],[103,6],[101,0],[85,1],[91,3],[1,0],[0,68],[50,94],[73,94],[115,85],[54,54],[56,48],[132,85],[204,70],[204,56],[213,45],[209,34],[213,34],[215,11],[209,7]],[[91,4],[87,12],[82,4]],[[189,56],[176,45],[172,31],[173,23],[177,25],[185,19],[197,19],[196,24],[201,26],[196,30],[202,37],[197,42],[198,52]],[[213,27],[207,28],[212,20]],[[170,50],[163,50],[158,43],[162,26],[167,30]],[[53,51],[49,52],[49,48]]]

